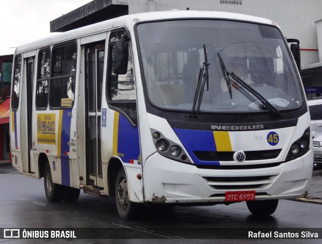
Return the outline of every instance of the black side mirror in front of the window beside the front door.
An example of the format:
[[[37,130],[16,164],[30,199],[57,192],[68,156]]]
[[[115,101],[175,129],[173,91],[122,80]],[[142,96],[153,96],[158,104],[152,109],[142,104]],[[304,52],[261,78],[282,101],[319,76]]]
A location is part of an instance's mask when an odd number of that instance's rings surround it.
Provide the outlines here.
[[[129,57],[129,45],[126,41],[119,41],[114,46],[113,71],[115,74],[126,74]]]

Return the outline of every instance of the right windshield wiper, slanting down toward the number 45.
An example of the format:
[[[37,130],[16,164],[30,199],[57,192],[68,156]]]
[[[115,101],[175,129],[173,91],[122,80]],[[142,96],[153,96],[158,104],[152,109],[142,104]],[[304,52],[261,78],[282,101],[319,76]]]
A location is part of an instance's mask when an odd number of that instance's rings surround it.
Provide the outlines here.
[[[220,65],[222,68],[222,72],[224,73],[224,77],[226,79],[226,83],[228,86],[228,90],[229,90],[229,95],[230,98],[232,98],[232,94],[231,94],[231,86],[230,86],[230,82],[229,82],[229,76],[231,78],[233,78],[235,80],[235,82],[237,82],[241,87],[245,88],[246,90],[248,90],[250,93],[252,93],[258,100],[260,100],[262,102],[262,104],[268,109],[270,110],[274,115],[278,115],[281,116],[280,111],[278,111],[277,108],[275,108],[266,98],[264,98],[260,93],[258,93],[254,88],[252,88],[250,85],[248,85],[246,82],[244,82],[243,79],[241,79],[240,77],[238,77],[236,74],[234,73],[230,73],[227,71],[226,66],[218,52],[218,57],[220,60]]]

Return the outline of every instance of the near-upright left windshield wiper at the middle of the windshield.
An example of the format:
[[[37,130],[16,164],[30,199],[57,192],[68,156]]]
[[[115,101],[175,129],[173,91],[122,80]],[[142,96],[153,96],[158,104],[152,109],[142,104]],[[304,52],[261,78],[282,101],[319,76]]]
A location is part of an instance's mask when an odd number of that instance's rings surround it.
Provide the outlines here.
[[[207,83],[207,91],[209,91],[209,72],[208,71],[209,71],[210,63],[208,63],[207,50],[206,50],[205,44],[203,44],[203,52],[205,56],[205,61],[203,62],[202,68],[199,71],[197,89],[196,89],[195,98],[192,105],[192,111],[190,114],[191,117],[198,116],[206,83]],[[198,100],[198,104],[197,104],[197,100]],[[196,105],[197,105],[197,108],[196,108]]]

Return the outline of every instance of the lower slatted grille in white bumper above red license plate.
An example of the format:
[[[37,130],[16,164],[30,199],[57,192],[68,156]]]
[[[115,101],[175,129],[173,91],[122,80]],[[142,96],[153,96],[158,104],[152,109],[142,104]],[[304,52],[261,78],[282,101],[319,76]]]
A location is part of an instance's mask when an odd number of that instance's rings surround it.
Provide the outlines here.
[[[258,189],[273,183],[274,176],[251,177],[203,177],[208,185],[217,190]]]

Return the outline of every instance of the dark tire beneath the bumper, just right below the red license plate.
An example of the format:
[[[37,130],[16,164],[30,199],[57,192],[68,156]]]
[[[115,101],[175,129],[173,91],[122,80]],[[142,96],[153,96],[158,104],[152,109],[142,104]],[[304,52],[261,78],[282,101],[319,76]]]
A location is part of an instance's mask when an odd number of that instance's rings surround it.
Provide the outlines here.
[[[250,212],[254,215],[271,215],[277,208],[278,199],[247,201],[246,204]]]

